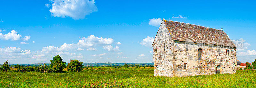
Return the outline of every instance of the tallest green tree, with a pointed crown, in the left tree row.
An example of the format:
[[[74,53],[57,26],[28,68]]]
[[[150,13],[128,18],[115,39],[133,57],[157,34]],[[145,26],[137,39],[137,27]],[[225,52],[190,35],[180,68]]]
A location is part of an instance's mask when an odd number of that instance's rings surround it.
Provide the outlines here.
[[[63,59],[60,55],[53,57],[51,60],[51,70],[52,72],[62,72],[64,68],[66,68],[66,62],[62,61]]]

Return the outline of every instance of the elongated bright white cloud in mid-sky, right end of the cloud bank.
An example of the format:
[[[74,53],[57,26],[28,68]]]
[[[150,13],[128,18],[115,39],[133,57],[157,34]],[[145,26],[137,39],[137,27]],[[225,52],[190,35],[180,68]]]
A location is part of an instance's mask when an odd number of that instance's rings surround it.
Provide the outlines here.
[[[81,38],[84,41],[90,42],[90,43],[95,43],[95,44],[100,44],[100,45],[109,45],[112,44],[114,42],[113,38],[98,38],[94,35],[88,36],[87,38],[83,37]]]

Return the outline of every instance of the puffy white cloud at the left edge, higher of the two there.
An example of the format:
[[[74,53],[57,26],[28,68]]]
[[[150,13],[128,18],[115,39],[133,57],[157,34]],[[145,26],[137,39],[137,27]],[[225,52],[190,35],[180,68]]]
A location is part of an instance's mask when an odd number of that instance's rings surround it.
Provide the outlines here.
[[[2,40],[9,40],[10,39],[10,40],[15,41],[15,40],[19,40],[20,37],[21,37],[21,35],[17,34],[17,31],[15,31],[15,30],[12,30],[11,33],[9,32],[7,34],[0,33],[0,39],[2,39]]]

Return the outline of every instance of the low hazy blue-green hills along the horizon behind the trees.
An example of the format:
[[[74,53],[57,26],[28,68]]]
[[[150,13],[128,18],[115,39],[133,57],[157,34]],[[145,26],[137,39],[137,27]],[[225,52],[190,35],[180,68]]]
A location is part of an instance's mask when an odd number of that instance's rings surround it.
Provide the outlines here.
[[[36,64],[19,64],[22,66],[39,66],[43,63],[36,63]],[[49,65],[50,63],[46,63],[46,65]],[[124,66],[126,63],[83,63],[83,65],[86,66]],[[138,66],[152,66],[154,63],[127,63],[129,65],[138,65]],[[10,64],[10,65],[16,65],[16,64]]]

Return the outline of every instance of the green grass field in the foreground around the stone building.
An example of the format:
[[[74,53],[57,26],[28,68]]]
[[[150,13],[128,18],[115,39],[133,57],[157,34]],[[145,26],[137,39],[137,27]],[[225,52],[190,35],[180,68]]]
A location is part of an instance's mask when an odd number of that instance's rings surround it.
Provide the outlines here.
[[[15,70],[15,68],[12,68]],[[64,69],[65,70],[65,69]],[[93,68],[80,73],[0,73],[4,87],[256,87],[256,71],[236,74],[199,75],[190,77],[154,77],[148,68]]]

